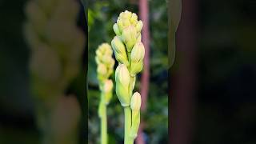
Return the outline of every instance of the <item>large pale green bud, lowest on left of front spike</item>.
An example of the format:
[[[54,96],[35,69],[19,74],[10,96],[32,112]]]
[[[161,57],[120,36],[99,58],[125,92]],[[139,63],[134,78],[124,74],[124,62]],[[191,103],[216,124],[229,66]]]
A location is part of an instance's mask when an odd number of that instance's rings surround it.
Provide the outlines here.
[[[124,64],[118,65],[115,70],[116,94],[122,106],[130,106],[129,83],[130,74]]]

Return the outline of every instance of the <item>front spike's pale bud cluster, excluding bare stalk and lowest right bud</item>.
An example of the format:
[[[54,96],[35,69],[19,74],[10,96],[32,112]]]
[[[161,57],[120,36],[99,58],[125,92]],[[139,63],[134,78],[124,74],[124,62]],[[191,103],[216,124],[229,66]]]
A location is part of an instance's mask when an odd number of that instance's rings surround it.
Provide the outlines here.
[[[116,93],[122,106],[130,106],[136,74],[142,71],[145,48],[141,42],[143,23],[137,14],[126,10],[119,14],[113,29],[116,36],[111,42],[119,62],[115,73]]]

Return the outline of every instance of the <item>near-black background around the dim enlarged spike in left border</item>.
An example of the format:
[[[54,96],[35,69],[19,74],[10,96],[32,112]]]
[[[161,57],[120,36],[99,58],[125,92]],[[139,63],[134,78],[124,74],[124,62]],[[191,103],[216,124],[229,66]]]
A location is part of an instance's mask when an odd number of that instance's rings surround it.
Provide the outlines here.
[[[23,34],[26,2],[0,1],[0,143],[4,144],[30,144],[40,141],[30,91],[30,49]],[[77,24],[86,34],[85,14],[82,8],[81,5]],[[86,52],[86,49],[84,51]],[[66,90],[66,94],[77,96],[82,110],[79,125],[79,138],[82,143],[86,141],[85,71],[86,62],[83,62],[78,76]]]

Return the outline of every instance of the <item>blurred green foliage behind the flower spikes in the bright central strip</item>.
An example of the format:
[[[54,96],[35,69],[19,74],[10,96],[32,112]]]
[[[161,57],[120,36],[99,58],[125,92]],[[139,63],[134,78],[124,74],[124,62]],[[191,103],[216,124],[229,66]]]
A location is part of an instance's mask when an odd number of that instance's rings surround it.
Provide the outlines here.
[[[168,138],[168,96],[167,96],[167,12],[166,1],[149,1],[150,4],[150,91],[147,109],[142,114],[145,121],[145,138],[149,143],[166,143]],[[118,15],[125,10],[138,13],[138,1],[94,1],[88,2],[89,25],[89,142],[99,142],[100,125],[98,118],[99,91],[94,62],[95,50],[102,42],[110,43],[114,38],[112,26]],[[117,62],[116,62],[117,65]],[[135,90],[140,86],[141,74],[138,74]],[[112,74],[114,79],[114,74]],[[122,143],[123,110],[114,94],[108,106],[108,131],[110,143]]]

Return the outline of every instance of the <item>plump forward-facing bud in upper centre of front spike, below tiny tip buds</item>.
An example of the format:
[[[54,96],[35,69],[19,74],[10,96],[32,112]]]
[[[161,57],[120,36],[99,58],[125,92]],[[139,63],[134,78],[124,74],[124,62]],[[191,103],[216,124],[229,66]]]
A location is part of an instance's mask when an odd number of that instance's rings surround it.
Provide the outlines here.
[[[128,26],[122,31],[122,41],[126,44],[126,50],[130,52],[137,42],[137,31],[134,26]]]

